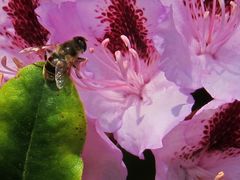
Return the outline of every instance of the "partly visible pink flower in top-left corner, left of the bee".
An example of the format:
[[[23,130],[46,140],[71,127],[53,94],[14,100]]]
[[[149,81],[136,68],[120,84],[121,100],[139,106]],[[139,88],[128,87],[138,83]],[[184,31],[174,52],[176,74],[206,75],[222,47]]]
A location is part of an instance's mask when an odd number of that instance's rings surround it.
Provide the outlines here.
[[[38,22],[34,10],[38,1],[9,0],[0,5],[0,76],[6,81],[19,68],[39,60],[39,56],[21,54],[27,47],[43,46],[48,31]],[[1,83],[0,77],[0,83]]]

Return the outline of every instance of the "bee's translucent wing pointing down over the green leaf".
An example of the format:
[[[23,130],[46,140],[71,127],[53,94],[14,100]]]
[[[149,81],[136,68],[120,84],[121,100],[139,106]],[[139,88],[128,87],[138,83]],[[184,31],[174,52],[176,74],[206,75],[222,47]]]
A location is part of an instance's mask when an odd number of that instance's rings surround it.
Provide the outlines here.
[[[67,70],[67,63],[65,61],[58,61],[55,66],[55,81],[58,89],[64,86],[64,77]]]

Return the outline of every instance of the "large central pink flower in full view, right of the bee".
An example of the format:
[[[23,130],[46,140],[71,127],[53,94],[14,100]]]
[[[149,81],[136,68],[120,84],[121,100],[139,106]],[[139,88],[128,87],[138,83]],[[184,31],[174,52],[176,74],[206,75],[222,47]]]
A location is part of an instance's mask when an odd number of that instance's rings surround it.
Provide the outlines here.
[[[161,139],[191,106],[166,80],[153,46],[159,34],[155,27],[168,21],[168,9],[156,0],[119,0],[48,2],[37,12],[52,42],[83,35],[92,47],[84,54],[88,62],[79,67],[80,79],[74,80],[97,127],[114,133],[135,155],[161,147]]]

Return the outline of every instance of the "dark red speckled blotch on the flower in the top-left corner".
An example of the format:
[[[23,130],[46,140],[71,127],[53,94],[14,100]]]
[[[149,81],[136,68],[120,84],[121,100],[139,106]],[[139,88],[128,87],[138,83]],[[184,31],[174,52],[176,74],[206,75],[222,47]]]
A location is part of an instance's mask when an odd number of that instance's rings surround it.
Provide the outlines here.
[[[38,5],[38,0],[10,0],[7,6],[3,7],[12,22],[15,34],[9,33],[6,28],[2,34],[10,38],[14,46],[42,46],[47,42],[49,32],[38,22],[34,12]]]

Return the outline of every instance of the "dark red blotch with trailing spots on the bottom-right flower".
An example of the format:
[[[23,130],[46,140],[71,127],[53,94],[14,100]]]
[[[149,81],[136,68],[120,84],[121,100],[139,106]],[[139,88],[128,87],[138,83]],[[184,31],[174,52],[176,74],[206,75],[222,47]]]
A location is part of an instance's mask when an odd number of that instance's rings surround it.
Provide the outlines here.
[[[240,101],[222,105],[203,123],[202,138],[194,146],[183,146],[175,156],[194,162],[204,153],[222,154],[222,158],[240,155]]]

